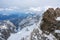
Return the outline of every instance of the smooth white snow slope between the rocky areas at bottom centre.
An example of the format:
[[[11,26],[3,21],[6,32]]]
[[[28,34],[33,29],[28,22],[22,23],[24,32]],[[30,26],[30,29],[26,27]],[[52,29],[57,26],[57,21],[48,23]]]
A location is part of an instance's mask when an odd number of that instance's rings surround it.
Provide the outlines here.
[[[8,40],[29,40],[30,33],[33,31],[33,29],[36,27],[36,24],[32,26],[27,26],[23,28],[20,32],[16,34],[11,34],[11,36],[8,38]]]

